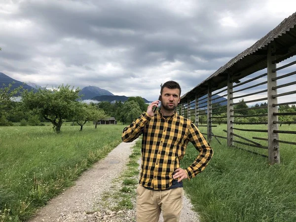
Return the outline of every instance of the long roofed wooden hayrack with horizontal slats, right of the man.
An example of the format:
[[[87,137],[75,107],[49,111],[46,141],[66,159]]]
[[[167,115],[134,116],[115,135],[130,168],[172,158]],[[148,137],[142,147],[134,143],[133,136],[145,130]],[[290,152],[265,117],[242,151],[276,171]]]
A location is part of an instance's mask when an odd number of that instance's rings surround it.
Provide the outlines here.
[[[279,130],[279,125],[296,123],[294,55],[296,13],[182,96],[177,111],[191,118],[209,141],[213,137],[225,139],[228,146],[268,157],[271,164],[279,163],[279,145],[296,145],[279,139],[282,134],[296,134]],[[291,62],[283,64],[287,59]],[[247,105],[258,102],[261,105]],[[220,124],[227,124],[227,129],[214,133]],[[247,136],[239,135],[242,132],[248,132]],[[267,149],[268,155],[241,145]]]

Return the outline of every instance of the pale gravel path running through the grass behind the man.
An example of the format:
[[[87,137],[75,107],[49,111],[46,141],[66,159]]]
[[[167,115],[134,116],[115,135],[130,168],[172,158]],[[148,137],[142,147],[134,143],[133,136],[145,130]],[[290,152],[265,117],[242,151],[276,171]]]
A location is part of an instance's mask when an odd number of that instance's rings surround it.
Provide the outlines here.
[[[29,222],[132,222],[136,211],[111,210],[94,211],[100,205],[104,192],[110,190],[112,180],[118,178],[126,169],[131,154],[132,143],[121,143],[107,157],[85,171],[75,185],[53,198],[37,211]],[[198,215],[191,210],[190,201],[184,197],[181,222],[198,222]],[[162,216],[159,222],[163,222]]]

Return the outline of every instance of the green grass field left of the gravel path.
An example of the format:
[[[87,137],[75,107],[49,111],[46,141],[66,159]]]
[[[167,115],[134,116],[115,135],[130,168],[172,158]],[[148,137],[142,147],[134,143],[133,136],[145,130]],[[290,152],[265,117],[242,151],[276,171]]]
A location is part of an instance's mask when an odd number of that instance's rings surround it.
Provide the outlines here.
[[[122,125],[0,127],[0,221],[24,221],[121,142]],[[5,210],[6,209],[6,210]]]

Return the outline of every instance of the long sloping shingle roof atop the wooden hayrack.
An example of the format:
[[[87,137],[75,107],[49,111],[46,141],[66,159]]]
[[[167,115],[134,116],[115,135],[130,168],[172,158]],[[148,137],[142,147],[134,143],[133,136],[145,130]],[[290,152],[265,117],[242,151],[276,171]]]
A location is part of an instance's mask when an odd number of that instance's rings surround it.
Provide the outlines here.
[[[181,97],[181,100],[185,100],[187,97],[194,98],[195,92],[199,94],[199,97],[206,95],[209,82],[212,83],[212,91],[225,87],[227,85],[227,73],[229,71],[235,74],[237,79],[240,79],[265,69],[267,67],[267,46],[272,41],[276,43],[276,54],[280,54],[276,60],[277,63],[296,55],[296,12],[284,19],[277,27],[259,39],[254,45],[238,54],[214,74],[185,93]],[[240,72],[247,68],[248,72],[240,74]]]

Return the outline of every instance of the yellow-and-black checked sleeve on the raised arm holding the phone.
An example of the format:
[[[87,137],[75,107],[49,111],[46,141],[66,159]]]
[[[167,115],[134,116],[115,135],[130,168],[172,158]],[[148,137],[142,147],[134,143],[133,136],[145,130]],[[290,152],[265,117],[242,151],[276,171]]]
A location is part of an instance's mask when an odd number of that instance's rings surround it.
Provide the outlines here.
[[[151,117],[147,112],[142,113],[142,115],[132,122],[129,126],[125,127],[122,132],[121,139],[125,143],[130,143],[136,140],[141,134],[145,125],[150,121]]]

